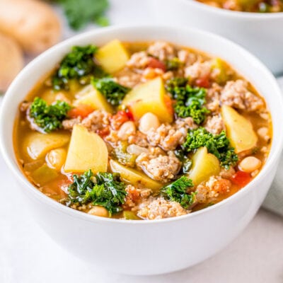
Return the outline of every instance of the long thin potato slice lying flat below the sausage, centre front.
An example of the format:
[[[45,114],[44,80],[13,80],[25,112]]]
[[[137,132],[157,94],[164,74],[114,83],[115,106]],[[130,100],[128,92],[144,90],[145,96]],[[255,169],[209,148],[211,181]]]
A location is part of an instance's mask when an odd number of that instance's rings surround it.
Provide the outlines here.
[[[144,173],[133,168],[122,166],[120,163],[117,163],[117,161],[110,160],[110,168],[112,172],[120,173],[122,180],[133,185],[144,185],[144,187],[147,187],[154,191],[158,191],[162,187],[161,183],[152,180]]]

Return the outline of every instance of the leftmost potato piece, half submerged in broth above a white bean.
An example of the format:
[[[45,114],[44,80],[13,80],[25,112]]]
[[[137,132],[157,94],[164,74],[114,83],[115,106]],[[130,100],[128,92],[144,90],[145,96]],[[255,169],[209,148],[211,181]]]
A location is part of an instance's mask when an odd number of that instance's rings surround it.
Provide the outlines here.
[[[69,134],[57,132],[40,134],[39,132],[32,132],[25,137],[23,147],[30,158],[37,159],[45,156],[51,149],[57,149],[66,145],[69,139]]]

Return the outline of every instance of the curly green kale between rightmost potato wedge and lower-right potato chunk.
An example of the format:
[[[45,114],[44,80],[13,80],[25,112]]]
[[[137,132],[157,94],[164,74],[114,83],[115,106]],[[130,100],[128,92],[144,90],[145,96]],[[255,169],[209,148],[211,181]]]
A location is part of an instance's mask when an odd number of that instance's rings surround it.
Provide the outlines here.
[[[183,151],[189,153],[201,146],[207,147],[209,153],[214,154],[219,158],[222,167],[229,169],[238,161],[238,155],[235,153],[233,147],[230,146],[230,141],[226,137],[226,132],[222,131],[220,134],[211,134],[200,127],[198,129],[190,129],[187,133],[187,138],[182,144]]]

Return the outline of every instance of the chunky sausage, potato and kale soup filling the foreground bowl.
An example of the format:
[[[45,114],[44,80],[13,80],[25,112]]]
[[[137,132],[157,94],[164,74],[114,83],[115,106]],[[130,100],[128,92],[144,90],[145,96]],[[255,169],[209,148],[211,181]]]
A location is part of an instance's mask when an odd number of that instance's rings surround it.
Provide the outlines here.
[[[19,106],[23,173],[72,209],[163,219],[241,190],[270,151],[265,100],[229,64],[169,42],[73,47]]]

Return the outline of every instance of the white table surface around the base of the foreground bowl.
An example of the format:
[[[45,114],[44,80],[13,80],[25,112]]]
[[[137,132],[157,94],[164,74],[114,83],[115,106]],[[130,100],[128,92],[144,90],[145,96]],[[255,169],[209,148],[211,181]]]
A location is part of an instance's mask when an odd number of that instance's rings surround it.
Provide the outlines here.
[[[111,2],[112,23],[149,21],[149,13],[137,6],[144,1]],[[213,258],[170,275],[133,277],[98,270],[57,246],[33,221],[1,156],[0,180],[0,283],[283,282],[283,219],[263,209],[241,236]]]

